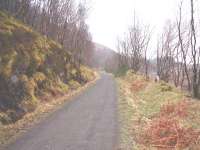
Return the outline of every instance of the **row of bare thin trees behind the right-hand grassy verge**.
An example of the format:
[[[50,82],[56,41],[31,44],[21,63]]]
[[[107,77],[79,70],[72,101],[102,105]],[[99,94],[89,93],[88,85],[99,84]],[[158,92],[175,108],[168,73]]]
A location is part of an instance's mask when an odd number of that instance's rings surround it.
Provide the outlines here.
[[[183,7],[184,4],[189,7]],[[156,70],[161,80],[187,89],[194,97],[200,98],[200,43],[198,24],[198,2],[181,0],[176,19],[168,20],[159,35],[156,49]],[[183,15],[183,12],[187,12]],[[134,19],[123,39],[118,41],[119,66],[128,66],[134,71],[145,68],[149,75],[151,30]]]

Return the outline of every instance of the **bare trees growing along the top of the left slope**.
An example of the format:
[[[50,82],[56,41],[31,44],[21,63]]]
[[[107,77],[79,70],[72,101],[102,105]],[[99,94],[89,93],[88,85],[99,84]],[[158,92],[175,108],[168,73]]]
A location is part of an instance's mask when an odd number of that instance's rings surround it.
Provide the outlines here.
[[[36,31],[59,42],[77,66],[89,65],[93,50],[86,19],[85,0],[1,0],[0,9],[9,12]]]

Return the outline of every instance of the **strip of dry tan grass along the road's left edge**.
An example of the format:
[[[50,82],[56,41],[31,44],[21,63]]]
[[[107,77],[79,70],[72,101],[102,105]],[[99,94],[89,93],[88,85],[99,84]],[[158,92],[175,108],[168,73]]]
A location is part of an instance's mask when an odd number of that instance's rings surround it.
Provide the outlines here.
[[[64,104],[72,101],[75,96],[79,96],[85,90],[95,85],[95,83],[100,79],[100,73],[94,73],[95,78],[85,85],[81,86],[80,88],[72,91],[71,93],[67,93],[66,95],[59,98],[53,98],[48,103],[41,103],[41,105],[38,106],[38,108],[34,112],[25,115],[15,124],[0,126],[0,134],[7,134],[6,137],[0,139],[0,149],[7,147],[9,144],[17,140],[17,138],[25,134],[26,131],[44,121],[48,116],[50,116],[57,110],[61,109]]]

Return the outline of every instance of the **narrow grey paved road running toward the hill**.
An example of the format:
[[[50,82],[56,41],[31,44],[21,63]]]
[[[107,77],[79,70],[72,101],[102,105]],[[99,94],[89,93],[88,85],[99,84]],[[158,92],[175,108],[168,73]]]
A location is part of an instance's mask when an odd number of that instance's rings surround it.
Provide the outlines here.
[[[117,96],[113,77],[97,83],[30,129],[6,150],[114,150]]]

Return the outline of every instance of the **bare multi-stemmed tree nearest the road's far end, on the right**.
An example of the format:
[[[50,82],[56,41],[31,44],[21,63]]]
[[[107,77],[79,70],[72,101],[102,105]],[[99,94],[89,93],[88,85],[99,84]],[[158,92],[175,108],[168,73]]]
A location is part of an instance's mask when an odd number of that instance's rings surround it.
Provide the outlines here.
[[[126,65],[135,72],[144,66],[146,75],[148,74],[147,50],[150,41],[150,31],[148,26],[143,26],[134,17],[133,25],[130,26],[123,40],[118,41],[120,51],[120,65]]]

